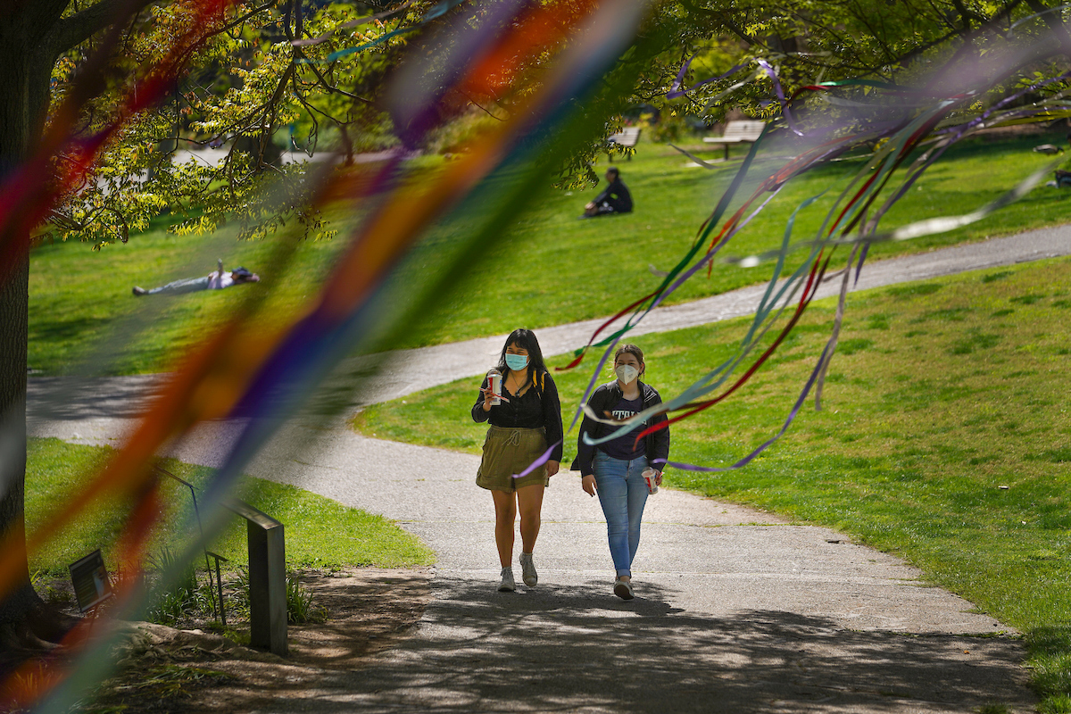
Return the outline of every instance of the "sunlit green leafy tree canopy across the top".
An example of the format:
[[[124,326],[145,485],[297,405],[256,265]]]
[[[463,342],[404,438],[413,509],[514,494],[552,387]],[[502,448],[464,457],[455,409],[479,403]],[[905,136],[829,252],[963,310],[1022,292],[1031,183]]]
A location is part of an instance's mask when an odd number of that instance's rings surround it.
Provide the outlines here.
[[[89,103],[79,131],[87,136],[116,122],[118,97],[188,31],[198,0],[153,4],[126,27],[112,52],[107,91]],[[577,0],[556,5],[561,22],[578,12]],[[176,216],[178,232],[212,231],[236,222],[243,238],[267,236],[288,217],[316,237],[333,229],[311,207],[302,177],[316,154],[337,151],[347,165],[361,152],[395,147],[406,127],[387,111],[383,88],[406,51],[446,55],[452,22],[496,21],[494,3],[412,0],[363,3],[280,0],[241,3],[202,28],[202,41],[184,58],[170,96],[154,111],[122,124],[86,180],[65,196],[43,228],[57,238],[104,245],[125,241],[161,213]],[[653,5],[633,46],[619,58],[601,92],[578,109],[605,127],[561,168],[563,184],[594,179],[590,159],[606,150],[604,137],[639,103],[677,115],[721,120],[731,107],[769,118],[770,78],[751,74],[757,59],[771,62],[786,95],[817,80],[868,77],[883,81],[933,81],[935,69],[954,73],[1011,35],[1062,28],[1057,12],[1037,0],[676,0]],[[76,12],[72,5],[67,13]],[[1066,11],[1061,11],[1066,12]],[[1015,24],[1042,13],[1032,24]],[[523,15],[510,21],[524,21]],[[1058,33],[1057,33],[1058,34]],[[533,36],[536,34],[533,33]],[[1067,36],[1066,30],[1062,36]],[[583,33],[570,42],[583,42]],[[102,42],[100,33],[63,54],[51,74],[55,112]],[[533,40],[538,42],[538,40]],[[1071,40],[1066,44],[1071,46]],[[554,47],[530,63],[548,61]],[[496,50],[497,51],[497,50]],[[517,62],[509,48],[493,55],[503,67]],[[681,66],[688,71],[678,78]],[[1036,76],[1066,69],[1066,57],[1039,60]],[[666,93],[727,72],[736,74],[676,98]],[[513,67],[516,69],[516,67]],[[512,76],[526,76],[521,67]],[[510,73],[503,72],[503,76]],[[752,81],[726,91],[749,78]],[[446,83],[447,78],[443,78]],[[531,86],[455,88],[442,100],[438,121],[450,126],[473,116],[494,123],[515,109]],[[999,94],[1005,88],[997,87]],[[1062,83],[1046,91],[1064,89]],[[859,88],[858,92],[865,92]],[[192,154],[191,150],[214,151]],[[420,150],[424,147],[407,147]],[[206,161],[213,155],[217,161]],[[60,156],[60,162],[74,161]]]

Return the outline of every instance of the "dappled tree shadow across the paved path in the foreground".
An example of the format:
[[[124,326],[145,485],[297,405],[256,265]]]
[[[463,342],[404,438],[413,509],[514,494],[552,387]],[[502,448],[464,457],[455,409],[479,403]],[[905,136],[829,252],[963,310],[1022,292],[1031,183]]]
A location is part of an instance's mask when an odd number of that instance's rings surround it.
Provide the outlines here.
[[[442,578],[419,635],[378,665],[326,673],[260,711],[977,712],[1032,711],[1021,644],[999,637],[853,632],[776,610],[690,614],[645,586],[498,593]],[[292,693],[291,693],[292,695]]]

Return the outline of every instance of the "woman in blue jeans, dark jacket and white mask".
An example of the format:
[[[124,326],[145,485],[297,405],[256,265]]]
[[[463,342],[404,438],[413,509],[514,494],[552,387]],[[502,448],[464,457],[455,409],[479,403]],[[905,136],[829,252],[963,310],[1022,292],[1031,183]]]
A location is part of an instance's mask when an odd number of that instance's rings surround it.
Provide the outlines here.
[[[588,407],[600,417],[620,423],[662,404],[658,391],[639,381],[646,370],[643,350],[635,345],[619,347],[614,354],[617,379],[597,389],[588,400]],[[648,495],[644,470],[648,466],[654,469],[654,483],[662,485],[662,469],[669,458],[668,428],[647,435],[638,444],[636,437],[652,424],[664,421],[665,413],[655,414],[629,434],[599,445],[584,443],[584,435],[593,440],[600,439],[619,427],[588,415],[580,425],[572,469],[580,472],[582,488],[590,496],[599,496],[603,515],[606,516],[609,555],[616,571],[614,594],[621,599],[633,597],[632,560],[639,546],[639,521],[644,517]]]

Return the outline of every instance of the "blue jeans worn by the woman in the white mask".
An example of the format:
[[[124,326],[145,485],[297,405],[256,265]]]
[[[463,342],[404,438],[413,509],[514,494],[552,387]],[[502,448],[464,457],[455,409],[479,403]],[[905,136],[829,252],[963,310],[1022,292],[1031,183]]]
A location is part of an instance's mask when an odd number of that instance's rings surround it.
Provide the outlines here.
[[[646,468],[646,456],[623,461],[595,452],[595,487],[606,516],[609,555],[619,577],[632,577],[632,559],[639,547],[639,520],[647,504],[647,482],[643,476]]]

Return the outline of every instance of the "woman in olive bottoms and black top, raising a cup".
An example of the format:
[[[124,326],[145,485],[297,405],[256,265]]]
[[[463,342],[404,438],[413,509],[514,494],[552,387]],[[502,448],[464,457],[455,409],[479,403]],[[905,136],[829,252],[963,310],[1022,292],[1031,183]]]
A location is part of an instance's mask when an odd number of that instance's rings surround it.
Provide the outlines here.
[[[495,543],[502,565],[500,591],[516,589],[513,580],[513,523],[521,511],[522,578],[529,588],[539,580],[532,550],[539,536],[543,489],[561,461],[561,402],[558,388],[543,364],[543,352],[531,330],[514,330],[498,360],[502,375],[501,404],[484,378],[472,405],[472,419],[491,422],[483,442],[483,460],[476,483],[495,499]],[[514,478],[555,444],[544,466]]]

